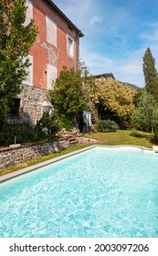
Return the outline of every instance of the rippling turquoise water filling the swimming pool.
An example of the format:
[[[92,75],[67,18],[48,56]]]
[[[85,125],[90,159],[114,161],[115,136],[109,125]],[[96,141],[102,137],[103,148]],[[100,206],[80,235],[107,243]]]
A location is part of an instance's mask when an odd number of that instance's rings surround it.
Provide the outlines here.
[[[0,237],[158,237],[158,154],[96,147],[0,185]]]

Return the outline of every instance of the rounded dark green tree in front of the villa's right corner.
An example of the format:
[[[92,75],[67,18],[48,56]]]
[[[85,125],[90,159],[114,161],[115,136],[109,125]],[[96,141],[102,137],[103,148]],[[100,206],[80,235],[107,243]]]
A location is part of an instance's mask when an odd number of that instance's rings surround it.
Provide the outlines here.
[[[58,117],[66,124],[65,126],[67,124],[69,126],[69,122],[73,125],[74,120],[79,121],[80,114],[90,101],[81,71],[64,67],[53,87],[54,89],[50,91],[50,99],[58,112]]]

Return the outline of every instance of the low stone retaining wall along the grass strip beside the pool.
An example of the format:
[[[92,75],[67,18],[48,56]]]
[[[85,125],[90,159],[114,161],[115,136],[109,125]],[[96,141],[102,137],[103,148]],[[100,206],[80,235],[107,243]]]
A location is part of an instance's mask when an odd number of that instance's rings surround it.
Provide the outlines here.
[[[51,142],[21,145],[17,148],[0,149],[0,168],[24,163],[40,155],[56,153],[68,148],[69,139],[60,139]]]

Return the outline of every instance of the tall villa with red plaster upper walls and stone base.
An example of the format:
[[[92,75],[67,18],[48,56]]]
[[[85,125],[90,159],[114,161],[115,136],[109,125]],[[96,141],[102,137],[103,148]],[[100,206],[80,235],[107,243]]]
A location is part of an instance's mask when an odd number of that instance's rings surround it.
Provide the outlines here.
[[[84,35],[51,0],[27,0],[25,25],[31,18],[38,28],[29,51],[31,66],[23,91],[17,95],[12,121],[36,124],[49,107],[47,91],[63,66],[79,69],[79,38]]]

